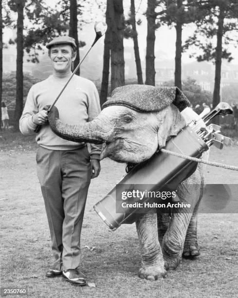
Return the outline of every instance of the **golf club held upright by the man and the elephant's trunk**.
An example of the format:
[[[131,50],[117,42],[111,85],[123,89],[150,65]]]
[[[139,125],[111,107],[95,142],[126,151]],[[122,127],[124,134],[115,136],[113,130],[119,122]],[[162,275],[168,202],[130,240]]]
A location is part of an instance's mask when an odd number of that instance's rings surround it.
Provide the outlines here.
[[[63,89],[60,91],[60,93],[58,94],[58,96],[56,97],[55,101],[53,102],[53,104],[50,106],[49,110],[47,111],[47,114],[49,114],[49,112],[51,111],[51,109],[55,106],[55,103],[57,102],[57,100],[59,99],[60,95],[63,93],[63,91],[65,90],[66,86],[69,84],[69,82],[71,81],[73,75],[75,75],[76,71],[79,69],[80,65],[82,64],[82,62],[84,61],[84,59],[86,58],[86,56],[89,54],[89,52],[91,51],[92,47],[94,46],[94,44],[98,41],[98,39],[100,37],[102,37],[106,31],[107,31],[107,24],[105,22],[96,22],[94,24],[94,30],[96,33],[96,37],[92,43],[91,48],[88,50],[88,52],[84,55],[84,57],[82,58],[82,60],[78,63],[78,65],[76,66],[76,68],[74,69],[72,75],[70,76],[70,78],[68,79],[68,81],[66,82],[66,84],[64,85]],[[35,132],[39,132],[41,128],[41,125],[37,125]]]

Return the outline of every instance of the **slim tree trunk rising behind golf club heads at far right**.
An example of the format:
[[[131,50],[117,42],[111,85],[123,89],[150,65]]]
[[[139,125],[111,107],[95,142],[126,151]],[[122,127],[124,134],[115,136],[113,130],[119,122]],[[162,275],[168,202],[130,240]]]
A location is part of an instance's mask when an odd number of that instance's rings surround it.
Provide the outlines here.
[[[223,25],[224,25],[224,11],[220,7],[220,14],[218,19],[216,59],[215,59],[215,83],[214,83],[214,91],[213,91],[213,108],[215,108],[220,103],[220,73],[221,73]],[[213,122],[215,124],[219,124],[219,117],[215,117]]]

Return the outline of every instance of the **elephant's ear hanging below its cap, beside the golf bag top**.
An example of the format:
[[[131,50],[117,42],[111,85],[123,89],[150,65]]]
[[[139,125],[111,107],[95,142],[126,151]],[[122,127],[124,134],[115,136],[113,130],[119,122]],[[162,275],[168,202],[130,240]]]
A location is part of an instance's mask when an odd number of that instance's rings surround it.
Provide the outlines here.
[[[186,126],[183,116],[173,104],[164,110],[167,111],[158,128],[158,149],[165,147],[169,137],[177,135]]]

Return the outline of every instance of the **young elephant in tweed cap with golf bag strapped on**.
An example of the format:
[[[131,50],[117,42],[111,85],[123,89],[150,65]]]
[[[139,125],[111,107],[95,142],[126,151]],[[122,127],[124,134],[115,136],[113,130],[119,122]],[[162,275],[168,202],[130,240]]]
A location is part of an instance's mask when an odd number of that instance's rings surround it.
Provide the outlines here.
[[[190,105],[177,87],[127,85],[116,88],[102,112],[91,122],[66,124],[56,107],[49,113],[51,129],[58,136],[74,141],[102,144],[101,159],[138,164],[165,147],[186,125],[182,110]],[[196,165],[189,177],[179,183],[177,195],[190,203],[193,213],[184,208],[159,212],[150,209],[136,221],[141,249],[142,279],[164,278],[175,269],[182,256],[200,254],[197,242],[197,214],[202,196],[203,166]]]

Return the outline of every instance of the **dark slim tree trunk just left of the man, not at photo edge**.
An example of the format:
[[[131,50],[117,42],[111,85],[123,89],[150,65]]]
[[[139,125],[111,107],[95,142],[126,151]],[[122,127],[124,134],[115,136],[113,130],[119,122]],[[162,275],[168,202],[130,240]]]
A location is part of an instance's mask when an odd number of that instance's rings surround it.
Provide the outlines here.
[[[16,71],[16,107],[14,130],[19,130],[19,119],[23,110],[23,9],[25,0],[17,1],[17,71]]]

